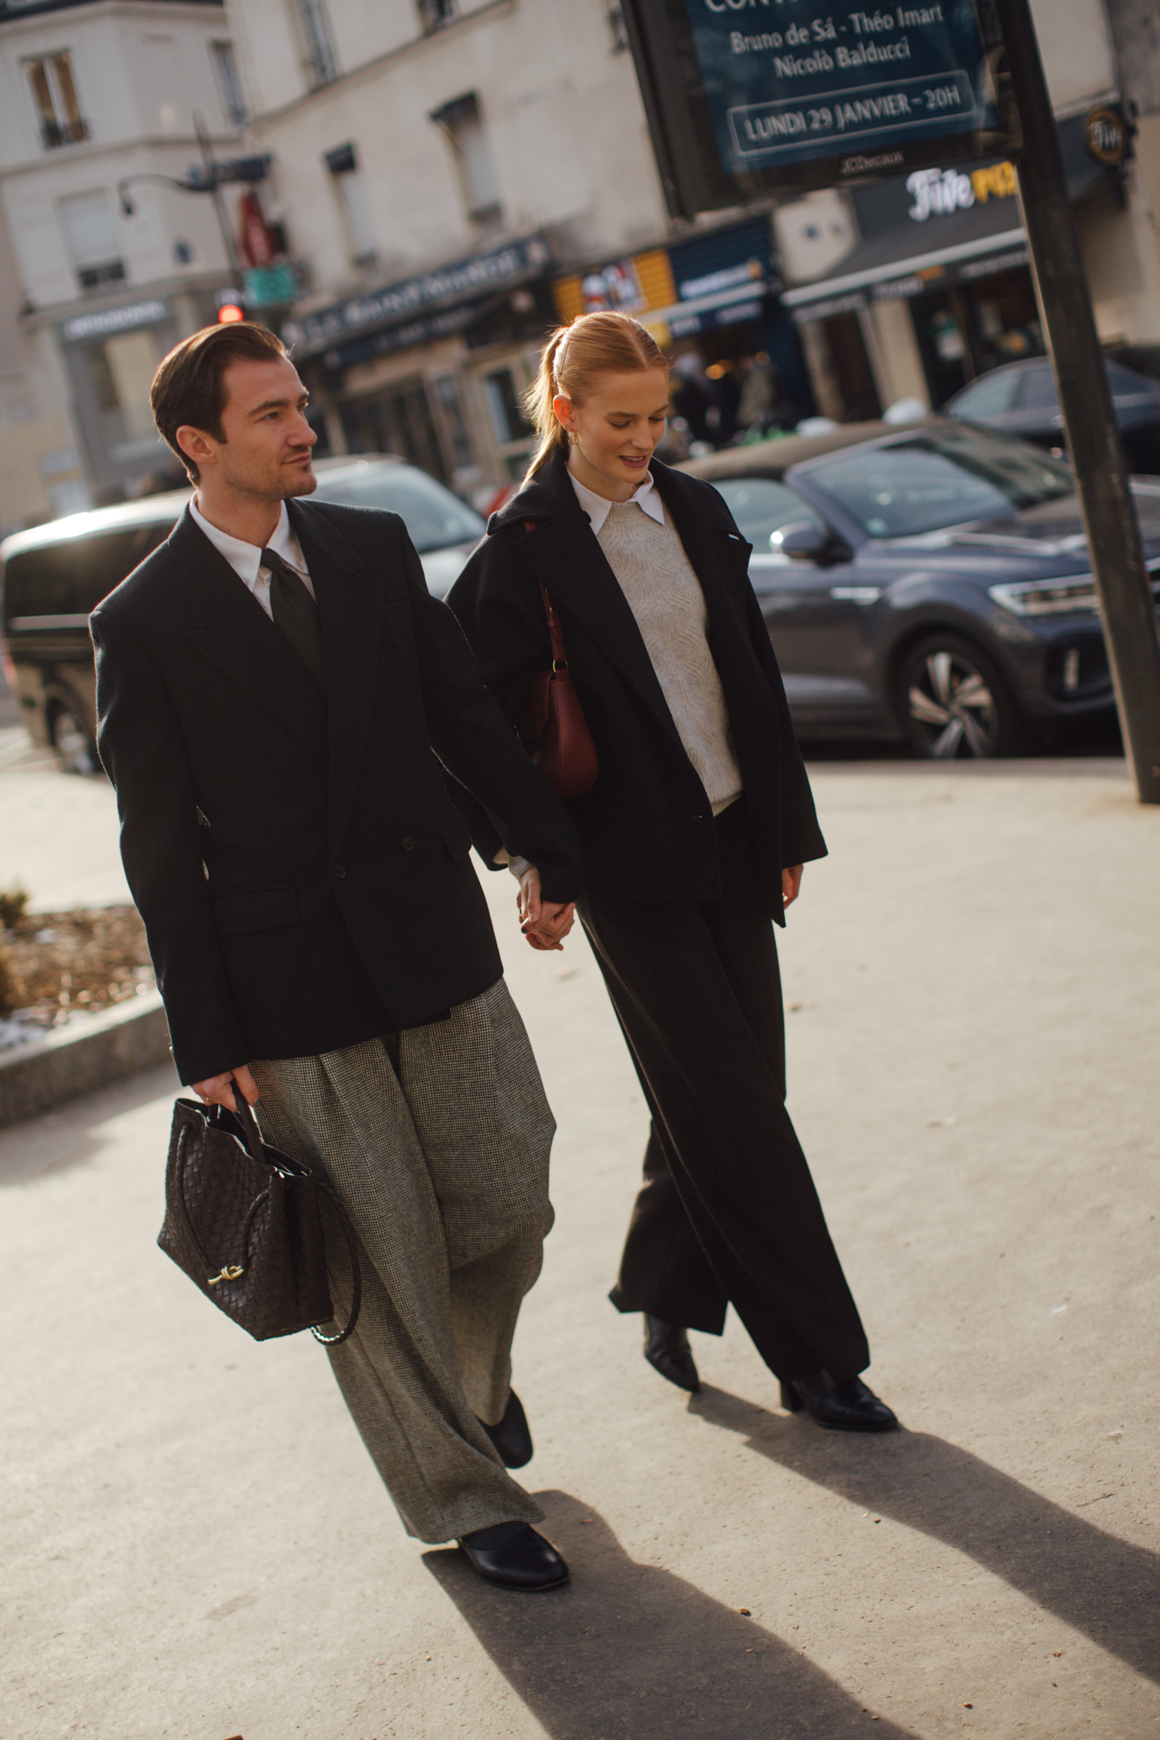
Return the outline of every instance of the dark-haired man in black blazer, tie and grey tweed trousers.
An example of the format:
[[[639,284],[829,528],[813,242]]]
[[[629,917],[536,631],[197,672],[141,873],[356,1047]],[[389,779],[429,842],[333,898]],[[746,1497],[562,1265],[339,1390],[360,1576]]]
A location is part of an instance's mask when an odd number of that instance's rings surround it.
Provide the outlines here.
[[[301,499],[304,411],[259,325],[195,332],[157,371],[197,492],[92,616],[101,760],[181,1081],[261,1096],[357,1230],[362,1315],[330,1361],[407,1531],[548,1589],[567,1566],[506,1469],[532,1455],[510,1352],[555,1124],[443,769],[536,867],[541,947],[579,844],[402,520]]]

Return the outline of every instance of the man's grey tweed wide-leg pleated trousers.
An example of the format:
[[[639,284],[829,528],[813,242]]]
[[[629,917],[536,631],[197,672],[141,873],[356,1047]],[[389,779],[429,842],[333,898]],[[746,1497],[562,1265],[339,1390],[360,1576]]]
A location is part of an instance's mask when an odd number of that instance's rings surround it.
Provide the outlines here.
[[[252,1070],[270,1141],[330,1180],[358,1237],[362,1314],[330,1364],[407,1533],[541,1521],[480,1425],[508,1404],[551,1227],[555,1122],[506,985],[390,1041]],[[327,1263],[344,1322],[336,1227]]]

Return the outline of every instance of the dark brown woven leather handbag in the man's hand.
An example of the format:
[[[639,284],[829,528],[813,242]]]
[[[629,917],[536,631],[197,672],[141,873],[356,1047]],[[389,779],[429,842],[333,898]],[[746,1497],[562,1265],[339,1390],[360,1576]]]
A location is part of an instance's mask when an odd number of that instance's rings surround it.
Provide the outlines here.
[[[242,1141],[240,1121],[177,1100],[158,1244],[256,1342],[334,1315],[318,1181],[287,1154]]]

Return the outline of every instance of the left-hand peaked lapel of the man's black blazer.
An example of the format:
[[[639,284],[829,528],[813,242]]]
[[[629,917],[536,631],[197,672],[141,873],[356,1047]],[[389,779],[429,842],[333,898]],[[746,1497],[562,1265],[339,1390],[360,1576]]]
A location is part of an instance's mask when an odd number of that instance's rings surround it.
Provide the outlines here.
[[[327,722],[318,684],[188,510],[169,548],[197,623],[186,628],[186,640],[299,743],[317,750]]]

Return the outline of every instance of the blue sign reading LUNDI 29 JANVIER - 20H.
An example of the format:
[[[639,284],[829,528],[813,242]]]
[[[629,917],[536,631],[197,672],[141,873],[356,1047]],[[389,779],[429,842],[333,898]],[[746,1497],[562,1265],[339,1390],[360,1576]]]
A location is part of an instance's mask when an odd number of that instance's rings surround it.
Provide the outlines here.
[[[682,216],[1014,144],[986,0],[628,0],[626,16]]]

